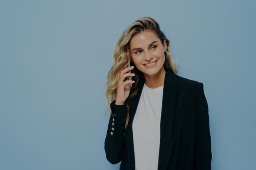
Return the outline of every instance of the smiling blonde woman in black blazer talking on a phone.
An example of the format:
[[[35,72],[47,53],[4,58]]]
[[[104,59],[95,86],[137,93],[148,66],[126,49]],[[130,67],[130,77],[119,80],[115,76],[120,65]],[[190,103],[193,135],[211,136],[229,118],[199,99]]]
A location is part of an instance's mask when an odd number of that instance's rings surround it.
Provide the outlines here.
[[[169,44],[153,18],[140,17],[115,45],[104,149],[120,170],[211,170],[203,84],[177,75]]]

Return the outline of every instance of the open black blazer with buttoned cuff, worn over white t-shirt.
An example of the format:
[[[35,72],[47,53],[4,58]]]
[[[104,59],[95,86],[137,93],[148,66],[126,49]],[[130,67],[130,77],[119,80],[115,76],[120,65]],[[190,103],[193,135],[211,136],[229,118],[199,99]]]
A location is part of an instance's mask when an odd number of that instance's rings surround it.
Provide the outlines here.
[[[203,84],[175,74],[165,68],[158,170],[211,170],[211,136],[208,104]],[[105,138],[106,158],[111,164],[121,161],[120,170],[135,170],[132,122],[144,85],[130,106],[130,119],[124,130],[127,99],[123,105],[110,104]]]

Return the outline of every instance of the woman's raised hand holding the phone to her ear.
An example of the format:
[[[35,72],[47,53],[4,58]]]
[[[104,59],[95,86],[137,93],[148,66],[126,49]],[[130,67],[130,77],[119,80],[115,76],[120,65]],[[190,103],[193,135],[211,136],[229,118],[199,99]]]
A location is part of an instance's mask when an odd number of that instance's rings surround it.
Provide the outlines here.
[[[122,69],[122,71],[120,72],[120,81],[117,87],[117,95],[116,95],[116,102],[115,102],[116,105],[124,104],[126,98],[130,94],[130,89],[131,89],[130,83],[134,83],[135,81],[129,80],[129,76],[135,76],[135,74],[130,73],[128,71],[132,70],[133,68],[134,66],[131,66],[131,67],[127,66],[126,68]]]

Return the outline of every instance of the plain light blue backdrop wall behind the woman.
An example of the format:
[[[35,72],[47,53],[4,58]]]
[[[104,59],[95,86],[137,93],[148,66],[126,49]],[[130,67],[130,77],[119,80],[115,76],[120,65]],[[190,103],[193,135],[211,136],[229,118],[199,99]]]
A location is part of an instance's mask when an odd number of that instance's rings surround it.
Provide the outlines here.
[[[0,170],[118,170],[104,152],[103,86],[138,17],[171,41],[178,75],[202,82],[213,170],[255,170],[256,2],[1,0]]]

